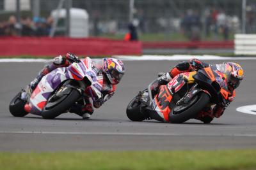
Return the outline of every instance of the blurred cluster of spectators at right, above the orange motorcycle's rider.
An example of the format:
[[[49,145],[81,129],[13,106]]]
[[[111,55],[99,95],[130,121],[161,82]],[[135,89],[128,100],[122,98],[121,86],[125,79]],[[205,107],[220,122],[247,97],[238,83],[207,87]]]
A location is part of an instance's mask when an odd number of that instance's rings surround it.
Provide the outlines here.
[[[200,40],[201,32],[205,36],[222,36],[227,40],[229,32],[239,32],[239,18],[228,16],[223,10],[205,10],[201,15],[198,11],[188,10],[182,17],[180,27],[184,34],[191,40]]]

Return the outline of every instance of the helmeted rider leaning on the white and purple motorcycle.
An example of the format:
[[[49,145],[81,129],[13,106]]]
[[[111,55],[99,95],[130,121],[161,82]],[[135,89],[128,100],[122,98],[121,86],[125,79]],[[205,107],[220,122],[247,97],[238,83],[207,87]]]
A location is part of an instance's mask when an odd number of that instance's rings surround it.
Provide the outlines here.
[[[97,75],[97,81],[100,81],[102,84],[102,87],[100,87],[102,97],[100,99],[97,99],[96,101],[93,101],[92,104],[90,101],[90,97],[92,97],[93,95],[92,93],[90,93],[90,90],[92,89],[88,87],[84,91],[84,100],[72,106],[69,111],[70,113],[76,113],[77,115],[80,115],[84,119],[90,118],[90,116],[93,113],[93,107],[99,108],[115,93],[116,85],[120,82],[122,76],[125,73],[125,67],[121,60],[113,58],[92,60],[90,59],[90,57],[86,57],[85,59],[80,60],[79,57],[72,53],[67,53],[65,56],[60,55],[53,59],[52,64],[45,66],[44,69],[42,69],[38,73],[38,76],[28,85],[29,90],[27,90],[27,92],[24,92],[22,96],[26,96],[28,92],[29,94],[31,94],[33,90],[35,90],[40,80],[42,80],[43,76],[45,76],[48,73],[51,73],[51,71],[53,71],[54,69],[58,67],[67,67],[73,62],[81,62],[83,60],[86,60],[87,63],[92,63],[92,70]],[[25,98],[26,97],[24,97],[24,99]]]

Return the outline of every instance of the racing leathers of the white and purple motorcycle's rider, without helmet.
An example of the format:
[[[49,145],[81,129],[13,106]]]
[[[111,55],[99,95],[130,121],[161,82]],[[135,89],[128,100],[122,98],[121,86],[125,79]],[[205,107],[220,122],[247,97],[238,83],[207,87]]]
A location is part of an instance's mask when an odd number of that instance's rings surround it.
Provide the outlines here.
[[[89,57],[86,57],[83,60],[92,60],[92,59],[90,59]],[[30,93],[32,93],[33,90],[35,90],[36,86],[38,85],[38,83],[40,82],[43,76],[45,76],[48,73],[51,73],[51,71],[53,71],[58,67],[67,67],[73,62],[80,62],[80,60],[76,55],[72,53],[67,53],[67,55],[65,56],[60,55],[58,57],[55,57],[53,59],[52,64],[45,66],[44,69],[42,69],[38,73],[38,76],[33,81],[31,81],[31,83],[29,84]],[[88,87],[84,91],[83,101],[79,101],[77,104],[72,106],[69,110],[70,113],[76,113],[77,115],[80,115],[84,119],[90,118],[90,115],[92,115],[94,111],[93,107],[99,108],[100,106],[102,106],[104,102],[106,102],[111,96],[113,96],[116,90],[116,85],[112,85],[111,83],[109,83],[109,81],[106,80],[106,78],[104,78],[104,74],[102,73],[102,70],[103,70],[102,60],[99,60],[98,62],[92,60],[92,65],[93,65],[92,66],[93,71],[97,74],[97,81],[102,82],[102,90],[101,90],[102,97],[100,97],[100,99],[97,99],[96,101],[93,101],[93,103],[91,103],[90,97],[92,97],[93,95],[92,94],[93,90],[90,89],[91,87]]]

